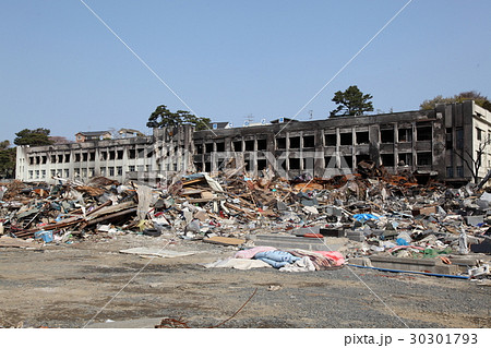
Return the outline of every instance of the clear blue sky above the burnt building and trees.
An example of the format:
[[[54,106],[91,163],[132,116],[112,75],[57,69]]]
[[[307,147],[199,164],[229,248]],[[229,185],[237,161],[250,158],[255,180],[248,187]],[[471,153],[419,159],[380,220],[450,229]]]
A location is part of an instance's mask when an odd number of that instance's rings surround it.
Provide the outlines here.
[[[407,2],[85,2],[197,116],[291,117]],[[298,116],[325,119],[358,85],[375,110],[475,89],[491,97],[491,2],[414,0]],[[0,141],[22,129],[134,128],[187,109],[80,0],[0,1]]]

